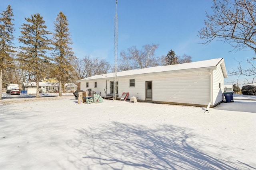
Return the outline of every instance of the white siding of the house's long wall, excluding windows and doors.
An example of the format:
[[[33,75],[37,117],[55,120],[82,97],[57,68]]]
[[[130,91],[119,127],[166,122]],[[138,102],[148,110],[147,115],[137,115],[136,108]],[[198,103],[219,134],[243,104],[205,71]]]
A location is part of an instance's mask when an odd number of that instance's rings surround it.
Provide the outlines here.
[[[139,100],[145,100],[145,82],[152,81],[153,101],[202,105],[209,103],[210,73],[208,71],[138,75],[136,88],[129,88],[130,79],[129,76],[117,79],[118,96],[121,96],[123,92],[129,92],[129,97],[137,96]],[[94,81],[91,80],[91,82]],[[110,93],[110,81],[112,80],[107,81],[107,94]],[[89,81],[89,84],[91,82]],[[92,90],[105,96],[106,80],[97,80],[97,82],[97,90],[93,88]],[[82,86],[83,82],[81,82]]]

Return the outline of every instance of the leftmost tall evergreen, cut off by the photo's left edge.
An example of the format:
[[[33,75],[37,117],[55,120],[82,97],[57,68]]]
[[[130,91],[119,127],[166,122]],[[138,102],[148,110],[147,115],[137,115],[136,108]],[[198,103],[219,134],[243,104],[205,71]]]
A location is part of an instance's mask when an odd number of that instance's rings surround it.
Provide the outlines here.
[[[1,13],[0,18],[0,100],[2,99],[2,82],[3,82],[3,70],[7,64],[12,63],[12,54],[15,53],[12,41],[14,40],[14,20],[12,17],[12,8],[10,5],[6,8],[6,11]]]

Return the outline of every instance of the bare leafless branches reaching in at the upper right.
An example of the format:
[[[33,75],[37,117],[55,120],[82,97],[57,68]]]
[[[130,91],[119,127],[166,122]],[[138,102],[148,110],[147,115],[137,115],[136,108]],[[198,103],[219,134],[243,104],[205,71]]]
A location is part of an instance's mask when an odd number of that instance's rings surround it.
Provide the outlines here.
[[[199,37],[205,40],[203,44],[218,39],[236,50],[252,49],[256,53],[256,0],[213,0],[213,3],[214,15],[206,13],[206,27],[199,31]],[[238,62],[238,70],[230,74],[256,75],[252,60],[247,62],[251,68],[242,68]]]

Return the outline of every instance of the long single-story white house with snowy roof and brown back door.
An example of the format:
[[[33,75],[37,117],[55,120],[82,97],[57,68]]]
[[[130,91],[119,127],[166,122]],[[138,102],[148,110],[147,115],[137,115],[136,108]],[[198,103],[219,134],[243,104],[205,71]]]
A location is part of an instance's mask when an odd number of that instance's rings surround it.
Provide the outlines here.
[[[117,73],[117,94],[129,92],[141,102],[189,106],[218,105],[223,100],[224,59],[156,66]],[[78,80],[80,90],[92,89],[101,96],[113,94],[114,73]]]

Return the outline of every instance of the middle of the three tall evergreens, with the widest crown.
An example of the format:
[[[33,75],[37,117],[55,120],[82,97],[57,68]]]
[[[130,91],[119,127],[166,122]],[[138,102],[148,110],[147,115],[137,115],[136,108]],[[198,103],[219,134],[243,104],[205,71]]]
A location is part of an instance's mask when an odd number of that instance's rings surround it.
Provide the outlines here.
[[[40,14],[33,14],[31,18],[25,18],[28,23],[22,24],[21,36],[18,39],[24,46],[20,47],[18,59],[22,68],[30,72],[36,81],[36,98],[39,98],[39,80],[42,80],[48,72],[51,59],[47,52],[51,50],[50,34],[47,31],[45,21]]]

